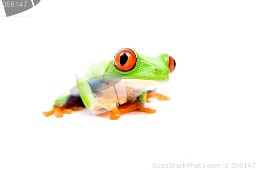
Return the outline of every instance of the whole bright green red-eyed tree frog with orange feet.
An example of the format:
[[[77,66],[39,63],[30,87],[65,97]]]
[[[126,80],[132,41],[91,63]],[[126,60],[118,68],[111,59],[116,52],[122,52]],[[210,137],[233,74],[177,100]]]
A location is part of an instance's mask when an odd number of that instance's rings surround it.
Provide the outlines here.
[[[145,103],[151,102],[151,98],[159,101],[170,100],[168,96],[158,93],[157,87],[169,81],[169,74],[175,67],[176,61],[167,53],[151,57],[139,54],[133,48],[121,48],[115,53],[113,60],[94,63],[86,76],[77,78],[78,95],[60,95],[50,111],[42,114],[47,117],[62,117],[63,113],[70,114],[84,108],[105,109],[106,113],[110,113],[111,120],[117,120],[122,114],[133,111],[156,113],[155,109],[146,108]],[[105,88],[113,78],[124,83],[124,97],[118,97]],[[101,92],[102,89],[107,89],[105,91],[109,93],[103,96],[95,94],[95,91]]]

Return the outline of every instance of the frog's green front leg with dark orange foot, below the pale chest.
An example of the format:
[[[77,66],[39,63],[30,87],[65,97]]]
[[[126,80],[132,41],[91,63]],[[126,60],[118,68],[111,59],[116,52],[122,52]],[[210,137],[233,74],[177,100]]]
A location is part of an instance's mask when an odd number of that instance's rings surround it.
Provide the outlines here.
[[[156,113],[156,110],[144,107],[144,104],[146,101],[146,94],[147,94],[147,91],[144,91],[143,93],[140,94],[138,100],[136,100],[135,102],[126,103],[126,104],[118,107],[120,113],[124,114],[124,113],[128,113],[128,112],[132,112],[137,109],[139,109],[140,111],[145,112],[145,113]]]

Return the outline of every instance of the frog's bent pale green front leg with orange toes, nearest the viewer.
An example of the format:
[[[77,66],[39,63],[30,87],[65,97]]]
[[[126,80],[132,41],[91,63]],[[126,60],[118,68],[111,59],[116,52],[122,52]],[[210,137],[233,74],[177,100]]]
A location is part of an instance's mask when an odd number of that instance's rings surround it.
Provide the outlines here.
[[[112,112],[110,116],[111,120],[116,120],[120,117],[121,113],[117,108],[116,103],[123,104],[126,102],[125,99],[106,99],[95,97],[89,83],[84,78],[78,79],[76,86],[86,108],[90,110],[98,110],[100,108],[109,110]]]

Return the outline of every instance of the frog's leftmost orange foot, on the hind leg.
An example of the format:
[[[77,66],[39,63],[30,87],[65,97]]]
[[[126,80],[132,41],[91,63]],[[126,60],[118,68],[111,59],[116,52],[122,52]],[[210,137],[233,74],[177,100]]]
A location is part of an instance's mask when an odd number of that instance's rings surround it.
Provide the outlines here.
[[[51,111],[42,112],[42,114],[44,114],[46,117],[51,116],[53,114],[56,117],[63,117],[63,113],[70,114],[73,112],[73,110],[82,110],[82,109],[83,109],[83,107],[77,107],[77,106],[71,107],[70,109],[66,109],[65,107],[54,106]]]

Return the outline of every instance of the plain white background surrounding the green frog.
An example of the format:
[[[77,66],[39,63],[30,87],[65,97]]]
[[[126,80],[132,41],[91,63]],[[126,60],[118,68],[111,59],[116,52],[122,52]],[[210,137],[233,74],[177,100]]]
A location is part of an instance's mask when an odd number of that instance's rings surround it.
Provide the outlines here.
[[[154,169],[256,162],[255,1],[45,1],[0,5],[0,169]],[[168,53],[156,114],[45,117],[75,75],[122,47]],[[255,169],[256,167],[254,167]]]

